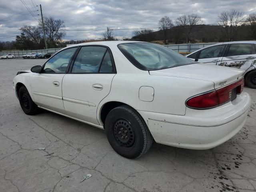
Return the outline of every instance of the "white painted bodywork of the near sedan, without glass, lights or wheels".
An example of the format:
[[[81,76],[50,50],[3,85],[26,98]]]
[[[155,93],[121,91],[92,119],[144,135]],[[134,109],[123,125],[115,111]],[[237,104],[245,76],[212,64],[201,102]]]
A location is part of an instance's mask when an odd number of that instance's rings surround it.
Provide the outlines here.
[[[90,42],[64,48],[107,46],[114,58],[114,74],[26,71],[14,77],[16,94],[18,83],[22,83],[40,108],[98,128],[104,128],[103,106],[108,102],[122,102],[142,116],[156,142],[181,148],[213,148],[242,128],[251,102],[246,92],[226,104],[205,110],[188,108],[185,102],[192,96],[240,80],[244,70],[204,64],[140,70],[118,49],[122,43],[132,42]]]

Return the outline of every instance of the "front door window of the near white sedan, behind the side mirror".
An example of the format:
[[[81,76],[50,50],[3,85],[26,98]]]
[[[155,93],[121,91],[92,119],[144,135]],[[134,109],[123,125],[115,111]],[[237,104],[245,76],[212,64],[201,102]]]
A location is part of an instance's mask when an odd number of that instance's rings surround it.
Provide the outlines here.
[[[63,50],[50,58],[44,65],[44,73],[65,73],[68,64],[76,51],[75,48]]]

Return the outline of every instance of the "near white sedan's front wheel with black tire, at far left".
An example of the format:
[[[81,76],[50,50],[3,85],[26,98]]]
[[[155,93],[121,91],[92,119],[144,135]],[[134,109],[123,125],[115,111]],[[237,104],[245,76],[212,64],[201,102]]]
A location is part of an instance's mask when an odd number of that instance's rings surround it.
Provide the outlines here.
[[[25,86],[22,86],[19,90],[20,106],[24,113],[27,115],[34,115],[38,112],[38,106],[32,101],[30,94]]]

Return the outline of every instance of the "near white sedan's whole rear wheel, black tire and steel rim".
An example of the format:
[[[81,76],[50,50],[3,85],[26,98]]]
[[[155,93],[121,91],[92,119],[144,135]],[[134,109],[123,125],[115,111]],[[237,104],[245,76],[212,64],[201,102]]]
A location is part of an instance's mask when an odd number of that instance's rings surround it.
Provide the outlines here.
[[[138,158],[151,147],[153,137],[144,119],[129,106],[112,109],[105,122],[108,142],[121,156]]]

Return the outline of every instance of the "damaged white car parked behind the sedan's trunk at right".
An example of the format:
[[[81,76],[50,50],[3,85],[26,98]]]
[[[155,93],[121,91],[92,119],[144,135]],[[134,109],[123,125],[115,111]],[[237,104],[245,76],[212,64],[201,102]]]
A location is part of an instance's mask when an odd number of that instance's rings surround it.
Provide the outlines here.
[[[256,88],[256,41],[224,42],[204,47],[186,57],[210,65],[245,70],[245,83]]]

